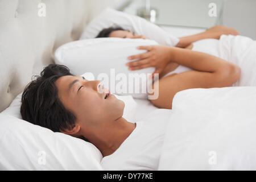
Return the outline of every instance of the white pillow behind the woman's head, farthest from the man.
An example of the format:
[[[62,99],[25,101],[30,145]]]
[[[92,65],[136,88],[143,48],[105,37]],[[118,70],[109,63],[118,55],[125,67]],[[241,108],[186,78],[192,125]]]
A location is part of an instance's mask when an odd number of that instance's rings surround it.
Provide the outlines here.
[[[148,39],[155,40],[159,44],[166,46],[176,46],[179,42],[178,38],[156,26],[156,24],[148,22],[139,16],[123,13],[109,7],[85,27],[80,39],[96,38],[101,30],[109,27],[122,27],[124,30],[144,35]]]

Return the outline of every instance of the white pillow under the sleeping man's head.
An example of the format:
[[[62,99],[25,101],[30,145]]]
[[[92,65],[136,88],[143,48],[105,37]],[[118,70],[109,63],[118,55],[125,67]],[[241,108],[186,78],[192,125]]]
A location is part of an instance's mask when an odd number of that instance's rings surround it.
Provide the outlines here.
[[[102,154],[92,143],[22,120],[21,97],[22,93],[0,113],[0,169],[102,170]],[[135,122],[133,97],[116,97],[125,102],[123,118]]]

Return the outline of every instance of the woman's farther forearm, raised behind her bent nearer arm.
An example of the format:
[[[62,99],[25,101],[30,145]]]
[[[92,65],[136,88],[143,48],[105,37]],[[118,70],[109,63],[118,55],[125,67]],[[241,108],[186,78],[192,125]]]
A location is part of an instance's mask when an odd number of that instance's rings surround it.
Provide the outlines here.
[[[199,34],[190,35],[190,36],[184,36],[182,38],[179,38],[180,41],[176,45],[176,47],[185,48],[192,44],[193,42],[196,42],[197,40],[201,39],[220,39],[221,35],[239,35],[239,32],[234,28],[229,28],[225,26],[214,26],[212,28],[209,28],[205,32],[201,32]]]

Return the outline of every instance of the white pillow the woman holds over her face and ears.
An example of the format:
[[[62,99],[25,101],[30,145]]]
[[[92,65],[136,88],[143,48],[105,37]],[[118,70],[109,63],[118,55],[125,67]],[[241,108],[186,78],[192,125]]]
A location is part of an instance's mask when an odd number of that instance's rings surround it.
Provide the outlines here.
[[[154,40],[122,38],[77,40],[57,48],[55,63],[66,65],[75,75],[90,72],[96,80],[101,80],[103,77],[102,82],[112,93],[147,99],[148,90],[152,85],[149,76],[155,68],[129,71],[125,64],[129,61],[127,57],[146,52],[137,49],[138,46],[151,45],[158,43]],[[136,79],[141,77],[141,80],[136,81],[133,76]]]

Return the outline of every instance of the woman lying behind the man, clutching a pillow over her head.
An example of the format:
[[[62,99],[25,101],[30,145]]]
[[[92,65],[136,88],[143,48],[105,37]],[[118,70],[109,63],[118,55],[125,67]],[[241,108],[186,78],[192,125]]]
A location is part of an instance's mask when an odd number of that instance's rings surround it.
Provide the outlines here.
[[[240,78],[241,68],[238,65],[214,54],[191,50],[193,42],[201,39],[217,40],[223,34],[239,35],[233,28],[215,26],[203,33],[180,38],[176,47],[141,46],[138,49],[148,52],[130,56],[129,60],[139,60],[126,65],[130,70],[155,67],[152,76],[159,73],[159,97],[150,101],[160,108],[172,109],[172,99],[181,90],[231,86]],[[97,38],[100,37],[147,39],[122,28],[106,28],[98,34]]]

